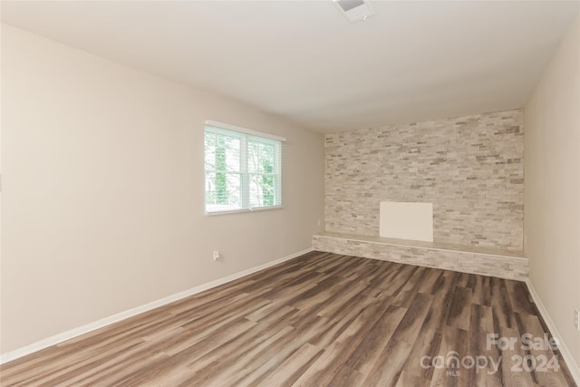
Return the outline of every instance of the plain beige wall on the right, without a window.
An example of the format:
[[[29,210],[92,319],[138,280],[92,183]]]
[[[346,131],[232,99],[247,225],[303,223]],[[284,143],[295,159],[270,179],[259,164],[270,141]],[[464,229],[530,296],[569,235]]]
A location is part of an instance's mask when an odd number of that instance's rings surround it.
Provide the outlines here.
[[[580,27],[565,35],[525,107],[530,280],[580,364]]]

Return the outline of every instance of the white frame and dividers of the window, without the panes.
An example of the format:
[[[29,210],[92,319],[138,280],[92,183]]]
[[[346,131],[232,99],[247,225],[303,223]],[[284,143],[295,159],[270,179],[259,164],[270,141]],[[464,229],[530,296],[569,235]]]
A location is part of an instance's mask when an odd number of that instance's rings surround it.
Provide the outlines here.
[[[205,121],[204,122],[204,142],[207,133],[216,133],[227,135],[231,137],[236,137],[240,139],[240,169],[238,171],[227,171],[228,173],[239,173],[240,175],[240,185],[241,192],[239,192],[241,198],[240,208],[232,209],[208,209],[208,203],[206,198],[208,181],[208,172],[218,173],[217,169],[208,169],[205,160],[205,149],[204,149],[204,208],[205,213],[208,216],[221,215],[221,214],[233,214],[238,212],[250,212],[256,210],[265,209],[275,209],[282,208],[282,145],[285,142],[285,138],[275,136],[269,133],[263,133],[260,131],[252,131],[246,128],[241,128],[235,125],[230,125],[218,121]],[[274,172],[271,174],[275,177],[275,204],[269,206],[252,207],[250,204],[250,179],[251,173],[247,169],[247,149],[248,141],[254,140],[257,142],[262,142],[270,145],[274,145],[275,150],[275,161],[274,161]],[[223,171],[222,171],[223,172]],[[264,173],[258,173],[257,175],[265,175]]]

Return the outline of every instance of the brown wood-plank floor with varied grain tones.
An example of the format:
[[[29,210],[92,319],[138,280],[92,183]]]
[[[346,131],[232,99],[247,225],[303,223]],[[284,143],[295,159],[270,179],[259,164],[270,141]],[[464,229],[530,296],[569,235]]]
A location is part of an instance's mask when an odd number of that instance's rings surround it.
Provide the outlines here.
[[[6,363],[0,384],[574,386],[545,333],[522,282],[313,252]]]

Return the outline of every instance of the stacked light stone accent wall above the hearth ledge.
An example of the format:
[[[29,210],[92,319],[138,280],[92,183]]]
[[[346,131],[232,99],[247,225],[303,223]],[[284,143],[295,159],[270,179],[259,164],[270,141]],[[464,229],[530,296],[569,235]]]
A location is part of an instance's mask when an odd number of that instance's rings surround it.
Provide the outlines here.
[[[433,203],[436,242],[523,249],[523,111],[327,134],[326,231],[379,236],[381,201]]]

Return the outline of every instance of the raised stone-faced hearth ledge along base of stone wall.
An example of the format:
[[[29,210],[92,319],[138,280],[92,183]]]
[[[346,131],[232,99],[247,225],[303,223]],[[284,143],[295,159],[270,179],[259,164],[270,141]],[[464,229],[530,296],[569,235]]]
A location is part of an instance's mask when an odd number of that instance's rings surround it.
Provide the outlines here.
[[[483,276],[518,281],[527,279],[527,258],[518,251],[330,232],[314,234],[313,248],[345,256],[362,256]]]

